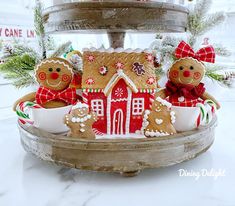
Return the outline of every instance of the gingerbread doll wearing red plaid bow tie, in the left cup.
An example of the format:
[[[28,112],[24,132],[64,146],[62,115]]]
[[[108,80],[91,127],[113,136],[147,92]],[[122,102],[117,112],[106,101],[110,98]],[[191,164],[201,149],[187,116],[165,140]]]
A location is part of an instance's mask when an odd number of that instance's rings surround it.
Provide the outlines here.
[[[43,60],[36,66],[35,78],[40,85],[37,92],[19,99],[14,109],[18,103],[25,101],[35,101],[44,108],[63,107],[77,102],[76,89],[70,87],[73,80],[73,67],[65,59]]]

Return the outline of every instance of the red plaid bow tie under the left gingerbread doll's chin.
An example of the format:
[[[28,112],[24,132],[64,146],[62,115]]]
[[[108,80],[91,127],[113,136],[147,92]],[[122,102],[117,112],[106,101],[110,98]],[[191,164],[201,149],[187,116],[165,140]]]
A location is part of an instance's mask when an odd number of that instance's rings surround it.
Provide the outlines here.
[[[59,92],[40,87],[36,93],[35,99],[36,103],[40,105],[53,100],[62,100],[69,105],[77,102],[77,94],[75,88],[68,88]]]

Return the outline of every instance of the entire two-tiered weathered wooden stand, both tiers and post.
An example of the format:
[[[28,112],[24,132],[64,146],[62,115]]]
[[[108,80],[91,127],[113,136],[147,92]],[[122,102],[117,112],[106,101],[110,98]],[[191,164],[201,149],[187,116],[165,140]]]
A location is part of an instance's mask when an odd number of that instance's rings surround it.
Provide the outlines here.
[[[107,32],[113,48],[123,47],[128,32],[184,32],[186,8],[157,2],[80,2],[45,10],[46,32]],[[24,149],[71,168],[135,176],[145,168],[174,165],[205,152],[214,141],[216,118],[206,127],[149,139],[86,141],[52,135],[19,124]]]

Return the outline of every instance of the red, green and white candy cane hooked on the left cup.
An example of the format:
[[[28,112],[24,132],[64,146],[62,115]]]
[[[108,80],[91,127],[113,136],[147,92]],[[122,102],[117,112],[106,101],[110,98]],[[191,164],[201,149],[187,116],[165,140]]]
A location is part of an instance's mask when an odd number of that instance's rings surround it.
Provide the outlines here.
[[[33,120],[30,119],[29,114],[27,113],[27,110],[30,108],[40,109],[42,107],[34,102],[20,102],[17,105],[16,114],[22,124],[33,124]]]

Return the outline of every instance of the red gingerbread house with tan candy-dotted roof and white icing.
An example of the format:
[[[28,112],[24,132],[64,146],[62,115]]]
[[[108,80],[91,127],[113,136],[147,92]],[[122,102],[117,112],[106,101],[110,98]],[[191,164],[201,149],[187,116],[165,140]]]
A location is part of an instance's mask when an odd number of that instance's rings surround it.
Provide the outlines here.
[[[98,116],[93,127],[99,134],[140,130],[156,87],[154,57],[149,51],[91,49],[83,53],[83,100]]]

